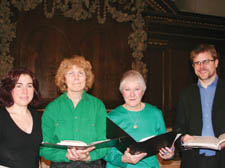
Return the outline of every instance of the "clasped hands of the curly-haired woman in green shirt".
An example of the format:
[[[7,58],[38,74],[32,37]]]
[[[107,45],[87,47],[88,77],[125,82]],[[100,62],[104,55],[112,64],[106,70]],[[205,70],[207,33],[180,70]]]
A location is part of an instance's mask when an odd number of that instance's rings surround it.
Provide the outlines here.
[[[77,149],[76,147],[68,148],[66,157],[72,161],[89,161],[91,157],[89,152],[95,149],[95,147],[89,147],[87,149]]]

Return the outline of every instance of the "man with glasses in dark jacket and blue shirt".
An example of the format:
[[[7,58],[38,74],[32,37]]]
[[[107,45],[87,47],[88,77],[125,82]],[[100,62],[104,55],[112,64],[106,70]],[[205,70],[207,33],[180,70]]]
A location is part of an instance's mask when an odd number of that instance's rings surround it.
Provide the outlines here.
[[[225,133],[225,82],[218,78],[218,55],[213,45],[201,44],[190,59],[198,82],[181,94],[174,129],[184,135],[182,143],[198,136]],[[181,168],[224,168],[225,149],[182,149]]]

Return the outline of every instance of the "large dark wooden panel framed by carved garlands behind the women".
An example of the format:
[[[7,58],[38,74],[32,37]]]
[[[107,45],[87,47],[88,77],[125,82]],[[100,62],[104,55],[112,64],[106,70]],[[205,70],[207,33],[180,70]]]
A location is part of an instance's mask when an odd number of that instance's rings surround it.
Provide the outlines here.
[[[47,19],[42,12],[37,8],[20,15],[14,53],[15,66],[28,67],[37,75],[45,103],[59,95],[54,83],[56,70],[61,60],[73,54],[91,61],[95,74],[91,94],[109,109],[123,103],[118,87],[132,63],[130,23],[108,18],[101,25],[96,17],[78,22],[61,15]]]

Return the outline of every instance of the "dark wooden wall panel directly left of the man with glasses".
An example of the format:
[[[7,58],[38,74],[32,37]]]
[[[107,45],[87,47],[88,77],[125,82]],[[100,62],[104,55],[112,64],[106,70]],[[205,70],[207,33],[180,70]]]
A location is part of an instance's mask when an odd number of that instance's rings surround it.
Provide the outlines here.
[[[169,83],[168,95],[168,123],[172,125],[175,117],[176,105],[180,93],[190,84],[196,82],[193,68],[189,59],[190,50],[187,46],[180,46],[179,48],[170,48],[171,57],[171,80]]]

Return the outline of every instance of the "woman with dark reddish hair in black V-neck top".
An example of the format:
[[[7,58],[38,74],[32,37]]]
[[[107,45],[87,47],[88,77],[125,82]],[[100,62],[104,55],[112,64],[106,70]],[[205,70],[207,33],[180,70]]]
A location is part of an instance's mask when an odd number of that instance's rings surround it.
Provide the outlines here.
[[[34,74],[25,68],[9,72],[0,86],[0,165],[38,168],[41,115],[32,106],[41,95]]]

